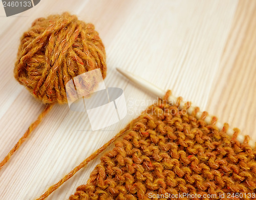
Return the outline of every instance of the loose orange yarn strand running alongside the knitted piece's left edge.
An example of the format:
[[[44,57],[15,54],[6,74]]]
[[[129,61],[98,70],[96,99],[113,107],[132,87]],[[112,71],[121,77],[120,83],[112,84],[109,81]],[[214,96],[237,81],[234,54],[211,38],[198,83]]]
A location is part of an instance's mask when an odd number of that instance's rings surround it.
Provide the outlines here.
[[[51,193],[53,193],[56,189],[58,189],[63,183],[68,181],[72,176],[76,174],[80,169],[87,166],[88,163],[90,163],[93,159],[95,159],[102,151],[104,151],[106,148],[108,148],[112,142],[114,142],[116,139],[118,139],[120,136],[125,134],[127,131],[120,131],[117,135],[115,135],[111,140],[106,142],[102,147],[94,151],[87,159],[82,161],[78,166],[76,166],[72,171],[70,171],[67,175],[65,175],[59,182],[52,185],[48,188],[48,190],[42,194],[40,197],[36,198],[35,200],[43,200],[46,199]]]

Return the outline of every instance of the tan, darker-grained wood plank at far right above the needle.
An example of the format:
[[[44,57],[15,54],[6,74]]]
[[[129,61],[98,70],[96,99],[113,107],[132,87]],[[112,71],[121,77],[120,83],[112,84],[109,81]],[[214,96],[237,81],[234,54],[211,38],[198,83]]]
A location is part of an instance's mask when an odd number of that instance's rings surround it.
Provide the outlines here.
[[[206,110],[256,140],[256,2],[240,1]]]

